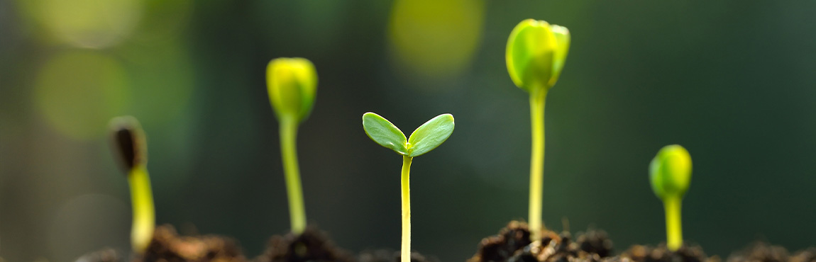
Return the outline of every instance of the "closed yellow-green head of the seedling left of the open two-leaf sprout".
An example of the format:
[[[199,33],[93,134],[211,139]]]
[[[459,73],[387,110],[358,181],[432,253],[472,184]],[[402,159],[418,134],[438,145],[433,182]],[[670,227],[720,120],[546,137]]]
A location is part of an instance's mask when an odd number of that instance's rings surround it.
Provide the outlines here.
[[[317,71],[303,58],[272,59],[266,68],[269,102],[278,120],[305,120],[312,111],[317,94]]]

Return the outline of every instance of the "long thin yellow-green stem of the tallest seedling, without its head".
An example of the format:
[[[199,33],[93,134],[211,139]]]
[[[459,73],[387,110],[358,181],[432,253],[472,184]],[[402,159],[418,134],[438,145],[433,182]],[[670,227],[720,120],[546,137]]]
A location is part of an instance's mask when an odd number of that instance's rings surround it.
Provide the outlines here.
[[[530,238],[541,238],[541,201],[544,182],[544,104],[547,91],[530,93],[530,123],[532,125],[532,152],[530,153]]]

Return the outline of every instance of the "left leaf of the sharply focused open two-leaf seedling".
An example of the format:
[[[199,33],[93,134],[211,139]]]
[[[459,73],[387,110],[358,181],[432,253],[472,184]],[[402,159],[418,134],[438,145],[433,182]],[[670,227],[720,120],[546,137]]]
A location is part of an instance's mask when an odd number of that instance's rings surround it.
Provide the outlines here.
[[[380,146],[388,147],[400,155],[408,155],[408,142],[405,133],[402,133],[400,129],[397,129],[396,125],[391,124],[382,116],[373,112],[363,114],[362,127],[366,130],[368,137]]]

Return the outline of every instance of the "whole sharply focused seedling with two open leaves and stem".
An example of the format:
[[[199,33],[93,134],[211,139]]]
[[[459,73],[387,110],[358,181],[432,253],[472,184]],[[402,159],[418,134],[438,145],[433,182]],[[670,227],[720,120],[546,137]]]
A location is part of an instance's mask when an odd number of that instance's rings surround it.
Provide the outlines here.
[[[371,140],[402,155],[402,247],[401,262],[410,262],[410,163],[415,156],[432,151],[454,132],[454,116],[442,114],[428,120],[406,140],[397,126],[372,112],[362,115],[362,127]]]

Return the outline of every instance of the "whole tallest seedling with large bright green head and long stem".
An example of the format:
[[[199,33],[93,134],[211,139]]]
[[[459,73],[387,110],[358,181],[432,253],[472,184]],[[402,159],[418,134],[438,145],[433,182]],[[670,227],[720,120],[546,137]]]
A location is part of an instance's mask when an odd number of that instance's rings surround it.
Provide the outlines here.
[[[510,78],[530,93],[533,138],[530,154],[530,238],[541,238],[541,201],[544,177],[544,103],[547,92],[561,76],[570,31],[545,21],[524,20],[512,29],[507,46]]]

